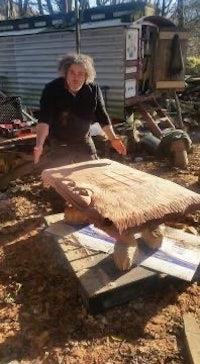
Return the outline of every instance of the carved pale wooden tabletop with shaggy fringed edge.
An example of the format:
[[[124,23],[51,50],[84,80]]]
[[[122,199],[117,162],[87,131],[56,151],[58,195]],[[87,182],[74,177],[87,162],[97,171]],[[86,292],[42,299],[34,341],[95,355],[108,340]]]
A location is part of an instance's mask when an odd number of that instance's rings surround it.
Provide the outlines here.
[[[200,208],[199,194],[109,159],[44,170],[42,179],[90,221],[107,219],[120,233]]]

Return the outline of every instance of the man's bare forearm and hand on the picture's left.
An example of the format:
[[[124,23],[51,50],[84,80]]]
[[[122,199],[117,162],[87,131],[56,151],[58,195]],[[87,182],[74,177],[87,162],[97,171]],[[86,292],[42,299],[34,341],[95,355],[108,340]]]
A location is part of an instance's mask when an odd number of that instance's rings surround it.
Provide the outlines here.
[[[36,145],[34,148],[34,164],[37,164],[43,152],[44,142],[49,135],[49,125],[39,123],[36,127]]]

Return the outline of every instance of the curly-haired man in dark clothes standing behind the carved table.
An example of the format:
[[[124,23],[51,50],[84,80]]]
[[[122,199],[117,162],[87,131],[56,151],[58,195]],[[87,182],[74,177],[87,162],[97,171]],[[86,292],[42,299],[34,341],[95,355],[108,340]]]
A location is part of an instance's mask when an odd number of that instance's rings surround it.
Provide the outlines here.
[[[115,135],[96,76],[93,60],[84,54],[67,54],[59,62],[59,78],[42,92],[34,163],[40,161],[46,138],[50,141],[50,164],[97,159],[90,126],[99,122],[112,147],[122,155],[126,148]]]

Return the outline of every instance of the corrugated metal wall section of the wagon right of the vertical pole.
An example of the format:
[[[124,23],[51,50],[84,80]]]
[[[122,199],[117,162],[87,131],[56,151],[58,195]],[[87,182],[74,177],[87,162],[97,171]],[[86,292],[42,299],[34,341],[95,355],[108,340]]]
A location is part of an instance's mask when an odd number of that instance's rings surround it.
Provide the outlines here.
[[[124,117],[124,28],[88,29],[82,32],[81,46],[94,58],[97,81],[108,86],[107,110],[112,117]]]

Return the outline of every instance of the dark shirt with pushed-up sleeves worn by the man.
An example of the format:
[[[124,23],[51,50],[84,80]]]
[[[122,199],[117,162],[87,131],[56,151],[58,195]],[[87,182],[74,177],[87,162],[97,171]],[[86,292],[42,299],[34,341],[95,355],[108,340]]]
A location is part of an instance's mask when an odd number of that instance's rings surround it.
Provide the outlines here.
[[[60,141],[81,141],[89,135],[90,125],[104,127],[111,121],[97,84],[84,84],[73,95],[65,88],[64,78],[48,83],[40,100],[39,123],[50,127],[50,135]]]

